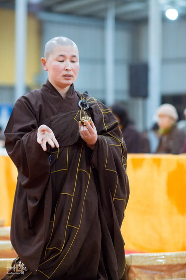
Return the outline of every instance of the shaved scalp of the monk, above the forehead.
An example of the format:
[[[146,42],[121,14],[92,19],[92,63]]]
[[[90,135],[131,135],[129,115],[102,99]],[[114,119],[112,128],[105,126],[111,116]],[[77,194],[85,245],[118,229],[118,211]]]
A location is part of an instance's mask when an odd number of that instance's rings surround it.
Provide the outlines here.
[[[54,51],[55,47],[60,45],[73,45],[78,49],[77,45],[71,39],[61,36],[54,37],[45,44],[44,56],[48,58],[49,55]]]

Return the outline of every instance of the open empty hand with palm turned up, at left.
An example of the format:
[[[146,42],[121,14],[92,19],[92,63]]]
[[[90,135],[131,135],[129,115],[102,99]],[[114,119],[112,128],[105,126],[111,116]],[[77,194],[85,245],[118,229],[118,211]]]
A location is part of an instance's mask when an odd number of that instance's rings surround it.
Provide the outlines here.
[[[59,147],[58,141],[56,140],[52,129],[45,124],[38,127],[37,142],[41,145],[44,151],[46,150],[46,143],[48,143],[52,148],[55,146],[57,148]]]

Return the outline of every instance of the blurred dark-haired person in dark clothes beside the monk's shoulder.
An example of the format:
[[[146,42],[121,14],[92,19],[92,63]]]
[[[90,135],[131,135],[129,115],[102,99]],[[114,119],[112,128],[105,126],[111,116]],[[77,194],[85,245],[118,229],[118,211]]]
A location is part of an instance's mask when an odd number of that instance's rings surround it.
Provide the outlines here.
[[[111,110],[123,133],[128,153],[150,152],[150,143],[147,135],[136,129],[124,105],[116,102],[111,106]]]

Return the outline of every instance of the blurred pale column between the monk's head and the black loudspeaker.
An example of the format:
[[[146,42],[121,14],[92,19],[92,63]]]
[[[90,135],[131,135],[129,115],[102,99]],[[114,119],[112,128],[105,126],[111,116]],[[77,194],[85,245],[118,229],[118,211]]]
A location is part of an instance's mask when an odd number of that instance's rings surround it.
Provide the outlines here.
[[[115,102],[115,2],[108,0],[105,19],[105,102],[107,106]]]

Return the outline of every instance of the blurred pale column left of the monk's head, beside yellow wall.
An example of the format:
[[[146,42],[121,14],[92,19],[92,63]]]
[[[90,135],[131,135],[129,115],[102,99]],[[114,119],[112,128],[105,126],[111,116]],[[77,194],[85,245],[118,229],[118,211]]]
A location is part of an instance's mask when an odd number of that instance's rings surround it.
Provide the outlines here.
[[[14,101],[25,93],[27,1],[15,0],[15,94]]]

